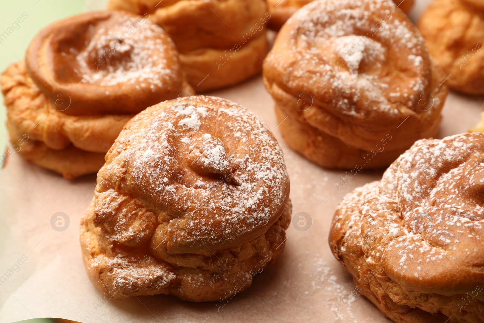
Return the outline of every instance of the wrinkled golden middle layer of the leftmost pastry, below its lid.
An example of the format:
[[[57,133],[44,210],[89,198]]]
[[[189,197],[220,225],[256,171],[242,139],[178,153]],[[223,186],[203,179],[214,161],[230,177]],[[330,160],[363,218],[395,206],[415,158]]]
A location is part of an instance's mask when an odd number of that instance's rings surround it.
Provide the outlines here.
[[[8,121],[18,132],[42,141],[54,150],[61,150],[72,144],[80,150],[105,154],[118,137],[124,123],[133,116],[66,115],[57,110],[44,92],[35,85],[23,62],[11,64],[2,73],[1,90],[5,98]]]

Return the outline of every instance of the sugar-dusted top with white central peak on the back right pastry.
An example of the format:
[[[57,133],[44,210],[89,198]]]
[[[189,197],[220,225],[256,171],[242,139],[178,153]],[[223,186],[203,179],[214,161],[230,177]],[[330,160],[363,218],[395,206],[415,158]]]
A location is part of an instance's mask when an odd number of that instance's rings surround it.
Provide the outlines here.
[[[421,107],[434,90],[427,47],[391,0],[307,4],[279,31],[266,63],[270,83],[352,123],[397,126],[434,109]]]

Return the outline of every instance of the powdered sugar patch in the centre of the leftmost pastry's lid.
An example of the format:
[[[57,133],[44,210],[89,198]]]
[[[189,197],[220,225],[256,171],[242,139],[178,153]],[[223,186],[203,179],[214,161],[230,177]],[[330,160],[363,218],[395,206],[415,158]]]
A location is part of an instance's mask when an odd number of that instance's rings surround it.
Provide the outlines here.
[[[165,32],[149,20],[116,15],[116,26],[102,25],[88,46],[77,53],[76,70],[83,83],[100,86],[136,84],[139,88],[168,87],[176,77],[173,66],[168,66]],[[111,18],[113,19],[113,18]],[[91,29],[93,27],[91,26]]]

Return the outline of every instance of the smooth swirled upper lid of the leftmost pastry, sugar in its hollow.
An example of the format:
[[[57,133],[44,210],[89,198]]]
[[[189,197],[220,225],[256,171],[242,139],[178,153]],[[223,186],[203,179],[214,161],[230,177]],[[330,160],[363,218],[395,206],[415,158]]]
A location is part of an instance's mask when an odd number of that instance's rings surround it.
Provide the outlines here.
[[[181,92],[178,53],[166,32],[122,11],[77,15],[40,31],[26,64],[37,86],[74,115],[137,113]]]

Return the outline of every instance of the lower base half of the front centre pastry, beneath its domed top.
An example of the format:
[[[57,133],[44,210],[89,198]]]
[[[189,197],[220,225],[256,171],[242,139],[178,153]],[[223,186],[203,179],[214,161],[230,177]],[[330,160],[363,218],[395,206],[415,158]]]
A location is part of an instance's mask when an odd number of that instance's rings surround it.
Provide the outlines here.
[[[122,255],[104,249],[99,241],[100,228],[92,223],[93,204],[94,200],[81,218],[83,261],[93,285],[114,299],[172,294],[185,301],[207,302],[223,301],[243,292],[252,284],[252,277],[272,264],[284,250],[285,230],[292,213],[289,200],[272,226],[241,246],[217,250],[208,256],[177,255],[178,259],[185,258],[185,263],[189,264],[183,267],[158,260],[147,249],[125,249]],[[212,271],[198,267],[198,261],[212,267]]]

